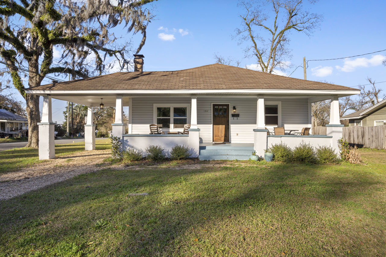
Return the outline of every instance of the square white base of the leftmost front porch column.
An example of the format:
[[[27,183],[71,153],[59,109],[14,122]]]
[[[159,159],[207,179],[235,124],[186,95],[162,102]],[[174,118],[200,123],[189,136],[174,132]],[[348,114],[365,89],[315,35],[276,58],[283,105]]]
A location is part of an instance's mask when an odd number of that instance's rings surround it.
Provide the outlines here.
[[[55,123],[41,122],[39,125],[39,160],[55,158]]]

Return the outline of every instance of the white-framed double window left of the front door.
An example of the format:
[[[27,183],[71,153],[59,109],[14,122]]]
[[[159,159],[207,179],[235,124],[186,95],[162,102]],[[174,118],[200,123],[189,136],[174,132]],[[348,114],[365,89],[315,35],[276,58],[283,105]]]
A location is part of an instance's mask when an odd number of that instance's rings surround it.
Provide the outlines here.
[[[154,104],[153,122],[166,130],[181,130],[189,120],[189,105],[186,104]]]

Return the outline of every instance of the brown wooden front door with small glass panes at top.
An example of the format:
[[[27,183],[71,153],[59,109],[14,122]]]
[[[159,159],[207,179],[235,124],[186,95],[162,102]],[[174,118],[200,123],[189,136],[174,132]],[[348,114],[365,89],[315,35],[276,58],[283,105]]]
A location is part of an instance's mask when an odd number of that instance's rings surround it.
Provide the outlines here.
[[[213,142],[229,142],[229,105],[213,104]]]

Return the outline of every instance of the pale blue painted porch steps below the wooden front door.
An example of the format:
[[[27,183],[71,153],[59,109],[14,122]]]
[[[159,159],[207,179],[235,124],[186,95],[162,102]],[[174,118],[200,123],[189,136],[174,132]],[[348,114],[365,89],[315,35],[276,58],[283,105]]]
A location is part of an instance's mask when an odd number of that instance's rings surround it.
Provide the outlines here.
[[[200,144],[200,160],[248,160],[254,151],[253,144],[223,143]]]

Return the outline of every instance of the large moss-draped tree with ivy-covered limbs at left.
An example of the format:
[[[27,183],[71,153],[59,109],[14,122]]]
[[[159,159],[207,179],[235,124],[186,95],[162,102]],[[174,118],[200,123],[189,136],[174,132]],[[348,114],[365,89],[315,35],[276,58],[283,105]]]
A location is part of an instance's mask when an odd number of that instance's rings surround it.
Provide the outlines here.
[[[139,52],[152,19],[142,8],[152,1],[119,0],[112,5],[109,0],[0,0],[0,56],[8,64],[1,74],[11,76],[27,103],[27,147],[38,147],[39,96],[25,93],[21,73],[28,72],[28,86],[33,88],[49,74],[71,74],[75,79],[102,74],[115,64],[130,69],[131,41],[117,44],[110,30],[122,24],[127,32],[142,33],[134,51]],[[63,49],[56,61],[54,46]]]

